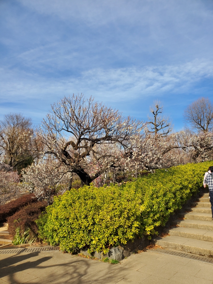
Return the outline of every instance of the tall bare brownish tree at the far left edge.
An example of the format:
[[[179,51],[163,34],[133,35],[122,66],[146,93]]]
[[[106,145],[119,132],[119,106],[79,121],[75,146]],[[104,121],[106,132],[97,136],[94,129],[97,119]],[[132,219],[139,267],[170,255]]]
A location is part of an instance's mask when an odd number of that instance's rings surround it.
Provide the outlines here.
[[[14,169],[32,164],[32,121],[20,113],[4,115],[0,122],[0,151]]]

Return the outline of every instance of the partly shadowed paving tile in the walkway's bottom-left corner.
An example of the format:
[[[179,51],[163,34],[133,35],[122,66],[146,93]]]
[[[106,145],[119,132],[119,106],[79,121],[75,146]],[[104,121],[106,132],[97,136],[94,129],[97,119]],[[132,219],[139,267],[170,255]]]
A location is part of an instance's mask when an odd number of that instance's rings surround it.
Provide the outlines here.
[[[12,284],[22,284],[26,283],[34,278],[33,275],[29,275],[22,271],[17,271],[11,267],[5,267],[0,270],[1,279]]]

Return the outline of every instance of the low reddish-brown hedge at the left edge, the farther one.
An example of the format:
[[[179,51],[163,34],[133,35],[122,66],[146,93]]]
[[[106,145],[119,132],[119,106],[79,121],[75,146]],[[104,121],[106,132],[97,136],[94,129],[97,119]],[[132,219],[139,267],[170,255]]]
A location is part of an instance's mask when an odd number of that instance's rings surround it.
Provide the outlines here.
[[[0,206],[0,222],[6,222],[9,216],[15,214],[18,210],[22,207],[26,206],[27,204],[31,204],[37,202],[37,197],[34,194],[26,194],[23,195],[16,200],[8,202],[4,205]]]

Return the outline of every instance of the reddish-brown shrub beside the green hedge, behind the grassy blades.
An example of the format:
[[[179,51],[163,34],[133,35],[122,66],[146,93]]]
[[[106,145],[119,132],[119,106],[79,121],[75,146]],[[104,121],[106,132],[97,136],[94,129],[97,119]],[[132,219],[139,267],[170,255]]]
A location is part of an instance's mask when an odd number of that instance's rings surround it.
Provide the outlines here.
[[[29,204],[20,209],[13,216],[8,218],[8,231],[12,237],[16,234],[16,228],[20,227],[21,231],[25,231],[28,227],[34,235],[37,235],[38,227],[35,220],[44,211],[47,206],[47,201],[39,201],[34,204]],[[16,220],[16,221],[15,221]],[[15,221],[15,222],[14,222]]]

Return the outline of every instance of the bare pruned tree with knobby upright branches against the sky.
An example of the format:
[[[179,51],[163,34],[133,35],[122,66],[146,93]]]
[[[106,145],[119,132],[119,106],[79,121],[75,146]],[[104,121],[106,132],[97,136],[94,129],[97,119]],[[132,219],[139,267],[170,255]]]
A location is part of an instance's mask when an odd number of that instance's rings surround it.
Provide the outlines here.
[[[172,131],[171,120],[169,117],[162,115],[163,105],[160,101],[156,100],[150,107],[150,112],[153,116],[148,116],[148,132],[154,133],[155,135],[166,136]]]

